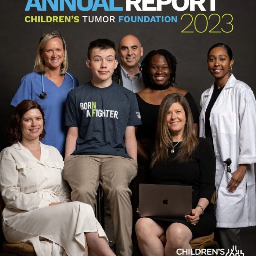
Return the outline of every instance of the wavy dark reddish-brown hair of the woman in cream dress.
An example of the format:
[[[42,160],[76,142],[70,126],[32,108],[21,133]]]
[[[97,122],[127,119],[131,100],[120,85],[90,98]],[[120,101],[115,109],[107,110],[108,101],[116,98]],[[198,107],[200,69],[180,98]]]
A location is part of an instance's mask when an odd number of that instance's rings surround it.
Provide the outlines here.
[[[35,100],[22,100],[20,104],[18,104],[17,107],[14,109],[14,112],[11,118],[10,128],[8,131],[9,141],[12,144],[22,140],[21,132],[20,132],[20,123],[21,123],[22,117],[26,112],[28,112],[28,110],[35,109],[35,108],[39,109],[39,111],[41,112],[44,120],[44,124],[45,124],[44,111]],[[45,134],[46,132],[43,128],[43,131],[39,136],[39,140],[43,139]]]

